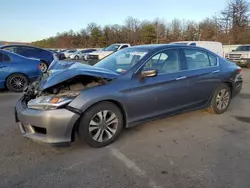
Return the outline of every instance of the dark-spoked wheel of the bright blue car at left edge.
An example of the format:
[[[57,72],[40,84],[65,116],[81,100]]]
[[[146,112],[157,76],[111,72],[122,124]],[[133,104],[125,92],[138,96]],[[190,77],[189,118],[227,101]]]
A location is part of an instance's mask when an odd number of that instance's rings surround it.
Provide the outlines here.
[[[6,86],[12,92],[22,92],[28,84],[29,79],[24,74],[12,74],[6,80]]]

